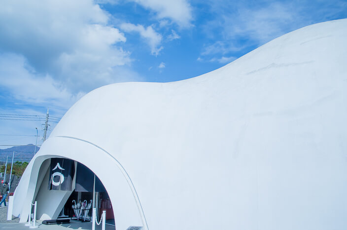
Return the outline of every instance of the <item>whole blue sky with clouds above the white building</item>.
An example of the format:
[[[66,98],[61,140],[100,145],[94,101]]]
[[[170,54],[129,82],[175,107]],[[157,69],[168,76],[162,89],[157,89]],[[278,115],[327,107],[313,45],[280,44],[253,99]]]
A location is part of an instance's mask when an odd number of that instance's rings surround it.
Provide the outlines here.
[[[61,117],[105,84],[196,77],[342,18],[347,0],[1,1],[0,114]],[[0,119],[0,145],[35,143],[7,135],[42,135],[41,123]]]

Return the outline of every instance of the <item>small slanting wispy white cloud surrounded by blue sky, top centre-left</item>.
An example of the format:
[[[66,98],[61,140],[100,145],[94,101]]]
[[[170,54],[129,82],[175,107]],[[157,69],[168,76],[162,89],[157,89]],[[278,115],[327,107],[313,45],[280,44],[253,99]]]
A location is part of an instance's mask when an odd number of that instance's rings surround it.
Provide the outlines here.
[[[157,56],[159,52],[163,49],[160,46],[162,41],[162,36],[155,32],[152,26],[144,28],[142,25],[134,25],[131,23],[123,23],[120,28],[125,32],[137,32],[144,38],[151,49],[151,54]]]

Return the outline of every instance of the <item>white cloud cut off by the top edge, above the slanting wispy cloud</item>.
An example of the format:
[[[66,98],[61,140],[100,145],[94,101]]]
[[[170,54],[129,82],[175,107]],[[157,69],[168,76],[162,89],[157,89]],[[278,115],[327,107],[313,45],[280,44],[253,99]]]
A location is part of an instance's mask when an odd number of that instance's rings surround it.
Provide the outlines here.
[[[169,18],[181,27],[191,26],[192,8],[187,0],[129,0],[157,13],[159,19]]]

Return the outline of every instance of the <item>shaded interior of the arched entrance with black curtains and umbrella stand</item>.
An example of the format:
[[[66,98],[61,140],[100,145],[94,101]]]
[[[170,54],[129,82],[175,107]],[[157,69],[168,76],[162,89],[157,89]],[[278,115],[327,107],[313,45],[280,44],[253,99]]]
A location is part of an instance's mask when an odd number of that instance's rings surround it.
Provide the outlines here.
[[[60,160],[60,164],[57,164],[56,159]],[[68,171],[68,164],[64,165],[64,160],[72,162],[70,188],[63,188],[60,185],[62,180],[69,181],[66,175],[65,177],[58,175],[58,172]],[[39,219],[69,218],[89,222],[92,220],[92,208],[95,207],[99,220],[103,211],[106,211],[106,223],[115,225],[112,203],[103,183],[91,169],[78,161],[59,157],[42,162],[38,173],[35,199],[40,201],[37,209]],[[56,205],[55,211],[45,213],[46,205]]]

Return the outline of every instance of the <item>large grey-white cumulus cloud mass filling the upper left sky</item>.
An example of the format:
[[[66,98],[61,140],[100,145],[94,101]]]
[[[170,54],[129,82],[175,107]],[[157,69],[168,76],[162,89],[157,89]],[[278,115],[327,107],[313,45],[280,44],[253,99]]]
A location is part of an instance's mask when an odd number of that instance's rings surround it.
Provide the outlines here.
[[[129,75],[132,60],[109,17],[92,0],[4,1],[0,55],[22,55],[37,73],[32,77],[50,76],[73,93],[124,81],[119,69]]]

